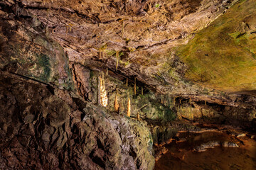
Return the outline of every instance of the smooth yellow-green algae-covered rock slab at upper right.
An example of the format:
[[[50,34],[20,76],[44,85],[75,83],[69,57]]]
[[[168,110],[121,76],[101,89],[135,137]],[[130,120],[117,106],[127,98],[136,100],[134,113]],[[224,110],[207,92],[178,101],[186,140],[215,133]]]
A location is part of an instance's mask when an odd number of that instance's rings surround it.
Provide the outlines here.
[[[238,1],[180,47],[187,79],[230,92],[256,88],[255,9],[255,1]]]

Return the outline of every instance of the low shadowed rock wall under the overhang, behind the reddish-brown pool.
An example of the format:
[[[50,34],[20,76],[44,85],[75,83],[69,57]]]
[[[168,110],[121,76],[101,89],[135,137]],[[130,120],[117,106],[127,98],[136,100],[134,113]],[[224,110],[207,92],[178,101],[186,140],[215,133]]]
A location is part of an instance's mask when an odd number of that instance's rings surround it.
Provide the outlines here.
[[[254,108],[230,107],[213,103],[182,100],[175,106],[177,118],[200,123],[233,125],[247,130],[255,129],[253,125],[256,112]]]

